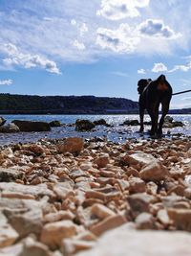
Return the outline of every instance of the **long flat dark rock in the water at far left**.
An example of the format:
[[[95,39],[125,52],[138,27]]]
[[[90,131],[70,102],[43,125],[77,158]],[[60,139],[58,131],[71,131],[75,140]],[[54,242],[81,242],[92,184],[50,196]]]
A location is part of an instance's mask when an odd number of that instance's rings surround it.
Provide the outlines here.
[[[21,131],[50,131],[51,126],[46,122],[13,120],[12,123]]]

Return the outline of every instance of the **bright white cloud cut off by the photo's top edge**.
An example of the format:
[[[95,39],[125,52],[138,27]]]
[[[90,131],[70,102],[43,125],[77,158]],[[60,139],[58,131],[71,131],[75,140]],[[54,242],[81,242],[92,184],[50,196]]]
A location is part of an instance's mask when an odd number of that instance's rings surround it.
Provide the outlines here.
[[[97,15],[107,19],[118,20],[126,17],[137,17],[138,9],[149,5],[150,0],[102,0]]]

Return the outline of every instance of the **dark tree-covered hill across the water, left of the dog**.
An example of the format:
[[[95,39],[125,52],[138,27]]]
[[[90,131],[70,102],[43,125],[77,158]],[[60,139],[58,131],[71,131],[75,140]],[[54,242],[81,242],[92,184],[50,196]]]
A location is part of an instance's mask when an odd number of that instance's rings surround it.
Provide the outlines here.
[[[138,103],[95,96],[31,96],[0,94],[0,114],[128,114]]]

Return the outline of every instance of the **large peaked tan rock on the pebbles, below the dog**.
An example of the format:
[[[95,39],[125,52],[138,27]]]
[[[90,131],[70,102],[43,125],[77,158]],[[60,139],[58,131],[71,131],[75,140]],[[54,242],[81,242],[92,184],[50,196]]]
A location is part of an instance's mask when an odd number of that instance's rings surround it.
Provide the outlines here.
[[[159,181],[164,180],[169,172],[165,166],[159,161],[153,161],[147,164],[139,173],[140,177],[146,181]]]

